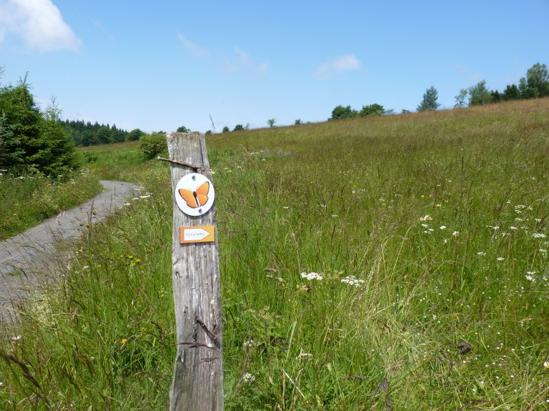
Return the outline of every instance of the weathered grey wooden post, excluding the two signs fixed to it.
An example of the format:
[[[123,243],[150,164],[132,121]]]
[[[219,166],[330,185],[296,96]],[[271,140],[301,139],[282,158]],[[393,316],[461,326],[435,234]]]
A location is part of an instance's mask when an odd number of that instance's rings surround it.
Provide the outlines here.
[[[167,135],[172,188],[197,169],[211,180],[206,140],[200,133]],[[196,167],[193,169],[192,167]],[[180,227],[213,225],[215,206],[188,216],[174,195],[173,286],[177,355],[170,410],[223,410],[223,340],[218,233],[214,242],[180,244]]]

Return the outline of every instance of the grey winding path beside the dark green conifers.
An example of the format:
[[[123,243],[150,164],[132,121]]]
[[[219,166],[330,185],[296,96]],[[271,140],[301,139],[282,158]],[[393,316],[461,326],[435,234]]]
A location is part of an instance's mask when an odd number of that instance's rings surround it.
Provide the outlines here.
[[[15,319],[17,306],[51,279],[59,258],[59,240],[75,237],[86,229],[84,224],[96,223],[124,206],[128,197],[139,196],[141,187],[125,182],[102,181],[104,191],[90,201],[61,212],[36,227],[0,242],[0,318]]]

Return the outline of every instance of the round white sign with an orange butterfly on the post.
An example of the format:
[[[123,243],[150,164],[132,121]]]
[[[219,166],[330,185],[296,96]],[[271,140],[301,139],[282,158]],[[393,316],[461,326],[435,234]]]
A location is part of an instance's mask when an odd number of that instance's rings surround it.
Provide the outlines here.
[[[188,216],[206,214],[215,199],[213,184],[205,175],[191,173],[185,175],[176,185],[176,203]]]

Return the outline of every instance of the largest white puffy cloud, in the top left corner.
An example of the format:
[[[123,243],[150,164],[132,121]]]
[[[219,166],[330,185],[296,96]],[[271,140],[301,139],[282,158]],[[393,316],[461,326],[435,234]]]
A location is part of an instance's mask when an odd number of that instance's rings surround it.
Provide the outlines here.
[[[20,36],[29,47],[43,53],[79,51],[82,46],[51,0],[1,1],[0,42],[7,32]]]

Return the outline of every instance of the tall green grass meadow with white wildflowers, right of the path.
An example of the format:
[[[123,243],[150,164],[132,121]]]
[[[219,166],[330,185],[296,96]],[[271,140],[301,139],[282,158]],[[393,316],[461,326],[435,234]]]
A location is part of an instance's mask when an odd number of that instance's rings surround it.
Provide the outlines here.
[[[226,409],[549,409],[548,134],[538,99],[209,137]],[[167,408],[168,166],[95,148],[150,197],[3,325],[5,410]]]

